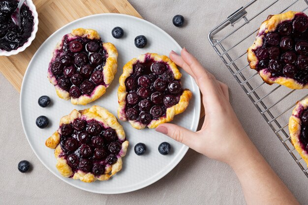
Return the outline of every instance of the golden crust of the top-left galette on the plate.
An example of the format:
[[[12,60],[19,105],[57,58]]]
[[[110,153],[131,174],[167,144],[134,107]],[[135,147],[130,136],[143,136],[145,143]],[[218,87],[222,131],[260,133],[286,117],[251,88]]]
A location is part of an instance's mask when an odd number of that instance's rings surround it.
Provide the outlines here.
[[[50,83],[52,83],[55,86],[57,95],[65,100],[71,99],[71,103],[74,105],[86,105],[100,98],[103,94],[105,94],[106,88],[108,88],[110,83],[113,81],[117,73],[117,67],[118,67],[118,61],[117,61],[118,50],[112,43],[102,43],[103,48],[106,50],[108,54],[105,66],[103,67],[104,85],[96,86],[91,94],[82,94],[78,98],[72,98],[70,97],[68,91],[58,86],[58,81],[54,76],[54,74],[51,72],[51,63],[55,61],[58,53],[63,48],[63,41],[65,40],[65,37],[68,37],[69,39],[75,39],[78,37],[83,37],[88,39],[100,39],[100,37],[98,32],[94,29],[83,29],[83,28],[73,29],[71,33],[64,35],[62,40],[57,44],[53,52],[53,57],[49,63],[48,79]]]

